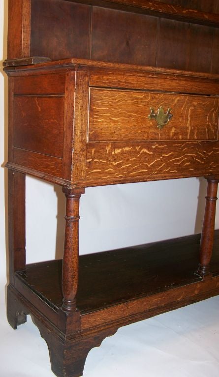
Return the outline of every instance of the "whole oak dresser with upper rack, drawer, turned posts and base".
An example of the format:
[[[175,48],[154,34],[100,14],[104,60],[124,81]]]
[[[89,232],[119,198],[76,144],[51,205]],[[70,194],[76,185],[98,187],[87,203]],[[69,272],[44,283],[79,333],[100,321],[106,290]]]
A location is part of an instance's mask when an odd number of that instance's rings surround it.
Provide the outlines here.
[[[58,377],[120,326],[219,294],[219,0],[164,1],[9,0],[7,317],[31,314]],[[63,186],[63,261],[26,266],[25,174]],[[200,235],[79,257],[85,187],[201,175],[200,257]]]

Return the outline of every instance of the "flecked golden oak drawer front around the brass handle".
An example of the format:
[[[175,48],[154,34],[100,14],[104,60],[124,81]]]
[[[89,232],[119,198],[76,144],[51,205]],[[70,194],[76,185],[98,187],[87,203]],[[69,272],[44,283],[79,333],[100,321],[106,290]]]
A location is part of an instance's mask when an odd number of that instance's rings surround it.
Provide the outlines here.
[[[150,108],[172,118],[161,129]],[[217,140],[219,98],[90,88],[89,141]]]

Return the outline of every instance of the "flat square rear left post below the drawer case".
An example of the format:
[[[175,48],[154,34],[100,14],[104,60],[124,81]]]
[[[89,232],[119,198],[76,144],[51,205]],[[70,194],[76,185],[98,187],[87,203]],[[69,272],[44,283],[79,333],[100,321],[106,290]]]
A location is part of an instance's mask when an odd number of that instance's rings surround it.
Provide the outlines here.
[[[8,170],[9,276],[26,265],[25,250],[25,174]]]

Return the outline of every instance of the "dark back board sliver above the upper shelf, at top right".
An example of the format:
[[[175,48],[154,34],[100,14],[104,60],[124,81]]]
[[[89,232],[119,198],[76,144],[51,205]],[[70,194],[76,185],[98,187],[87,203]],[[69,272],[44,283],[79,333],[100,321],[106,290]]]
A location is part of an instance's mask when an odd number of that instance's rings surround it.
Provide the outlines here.
[[[197,9],[201,12],[213,13],[215,10],[216,0],[159,0],[166,4],[179,5],[184,8]]]

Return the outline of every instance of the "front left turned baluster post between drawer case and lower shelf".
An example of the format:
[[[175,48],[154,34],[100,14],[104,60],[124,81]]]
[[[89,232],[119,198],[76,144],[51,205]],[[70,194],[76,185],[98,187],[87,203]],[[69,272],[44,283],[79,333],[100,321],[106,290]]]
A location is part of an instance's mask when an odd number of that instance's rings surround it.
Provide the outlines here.
[[[64,312],[76,310],[75,296],[78,288],[78,225],[79,201],[84,189],[63,188],[66,197],[66,216],[63,254],[63,306]]]

